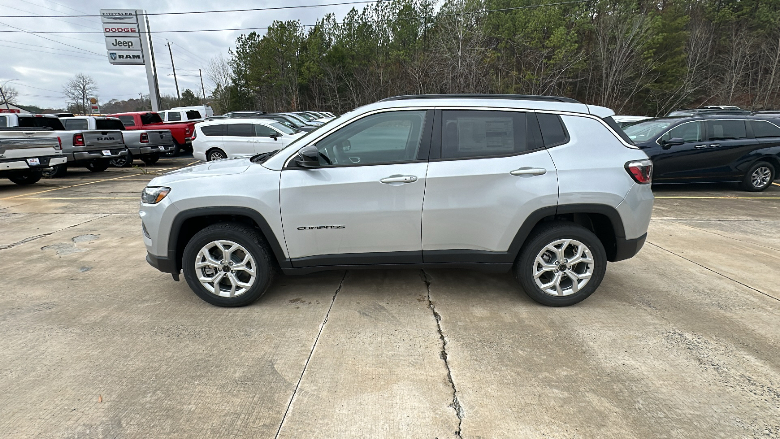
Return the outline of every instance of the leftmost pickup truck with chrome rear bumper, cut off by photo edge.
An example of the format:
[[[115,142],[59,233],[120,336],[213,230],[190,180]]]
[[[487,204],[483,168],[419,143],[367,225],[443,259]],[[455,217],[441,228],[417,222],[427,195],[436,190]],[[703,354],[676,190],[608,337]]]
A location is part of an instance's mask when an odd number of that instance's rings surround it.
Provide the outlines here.
[[[0,177],[34,184],[42,171],[67,161],[57,134],[46,128],[0,127]]]

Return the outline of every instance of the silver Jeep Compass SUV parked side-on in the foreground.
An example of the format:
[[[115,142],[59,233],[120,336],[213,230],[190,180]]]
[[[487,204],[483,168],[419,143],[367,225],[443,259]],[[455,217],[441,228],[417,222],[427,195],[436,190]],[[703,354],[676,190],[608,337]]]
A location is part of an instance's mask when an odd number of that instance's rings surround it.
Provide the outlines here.
[[[416,95],[366,105],[281,151],[151,180],[147,261],[219,306],[275,273],[505,272],[544,305],[593,293],[644,244],[652,164],[612,110],[569,98]]]

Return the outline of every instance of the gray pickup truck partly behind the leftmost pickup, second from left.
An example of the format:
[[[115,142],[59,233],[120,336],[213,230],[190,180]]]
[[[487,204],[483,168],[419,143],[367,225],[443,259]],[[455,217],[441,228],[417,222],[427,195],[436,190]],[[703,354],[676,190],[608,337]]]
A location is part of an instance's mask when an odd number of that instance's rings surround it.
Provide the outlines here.
[[[121,130],[66,130],[62,121],[50,114],[3,113],[2,117],[6,127],[55,130],[62,142],[62,154],[68,162],[44,170],[44,177],[65,175],[68,166],[84,166],[93,172],[104,171],[109,160],[127,155]]]

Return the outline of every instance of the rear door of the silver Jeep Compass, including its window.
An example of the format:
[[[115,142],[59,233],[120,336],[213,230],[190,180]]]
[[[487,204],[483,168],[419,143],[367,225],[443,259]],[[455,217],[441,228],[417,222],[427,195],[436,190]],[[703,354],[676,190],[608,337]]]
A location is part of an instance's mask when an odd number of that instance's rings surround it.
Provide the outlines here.
[[[546,116],[559,123],[558,116]],[[558,202],[555,165],[536,115],[442,109],[434,139],[423,205],[424,262],[507,262],[527,216],[548,206],[555,212]]]

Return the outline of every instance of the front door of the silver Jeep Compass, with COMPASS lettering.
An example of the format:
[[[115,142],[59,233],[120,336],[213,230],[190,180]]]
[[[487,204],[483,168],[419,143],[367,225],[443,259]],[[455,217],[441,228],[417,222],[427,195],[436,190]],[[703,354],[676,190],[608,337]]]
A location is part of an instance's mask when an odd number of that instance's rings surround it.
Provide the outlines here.
[[[320,167],[282,170],[293,266],[422,262],[431,119],[425,110],[365,116],[317,141]]]

